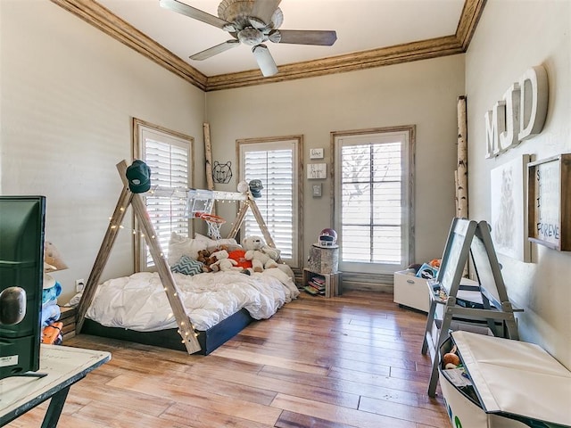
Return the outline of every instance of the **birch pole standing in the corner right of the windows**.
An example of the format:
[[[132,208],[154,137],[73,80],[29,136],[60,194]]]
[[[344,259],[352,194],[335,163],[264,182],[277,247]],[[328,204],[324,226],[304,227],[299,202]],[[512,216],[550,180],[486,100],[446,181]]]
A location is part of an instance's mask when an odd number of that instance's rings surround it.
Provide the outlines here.
[[[458,98],[458,169],[456,171],[456,216],[468,218],[468,123],[466,96]]]

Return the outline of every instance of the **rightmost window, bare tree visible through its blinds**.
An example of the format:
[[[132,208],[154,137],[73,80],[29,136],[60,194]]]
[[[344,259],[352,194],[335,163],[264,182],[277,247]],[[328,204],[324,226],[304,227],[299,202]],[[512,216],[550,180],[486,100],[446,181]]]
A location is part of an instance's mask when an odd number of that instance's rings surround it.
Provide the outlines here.
[[[414,127],[334,133],[340,270],[389,274],[414,255]]]

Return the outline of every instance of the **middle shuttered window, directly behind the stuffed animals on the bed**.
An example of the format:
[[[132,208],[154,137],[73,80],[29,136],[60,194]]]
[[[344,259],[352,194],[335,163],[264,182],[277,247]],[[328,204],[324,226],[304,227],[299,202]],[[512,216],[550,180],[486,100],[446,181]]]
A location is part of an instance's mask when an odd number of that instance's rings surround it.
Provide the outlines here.
[[[268,226],[281,258],[292,268],[301,266],[298,247],[302,192],[299,190],[302,137],[238,140],[240,180],[261,180],[261,198],[255,202]],[[244,236],[263,236],[258,222],[248,210],[242,226]]]

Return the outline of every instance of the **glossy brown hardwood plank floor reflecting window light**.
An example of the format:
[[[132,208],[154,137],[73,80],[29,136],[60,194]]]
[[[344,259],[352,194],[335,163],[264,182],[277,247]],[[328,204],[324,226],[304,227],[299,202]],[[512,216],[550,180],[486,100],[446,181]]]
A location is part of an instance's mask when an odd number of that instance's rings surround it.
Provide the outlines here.
[[[425,323],[392,294],[302,292],[209,356],[79,334],[64,345],[112,360],[71,387],[58,427],[448,427],[442,394],[426,395]]]

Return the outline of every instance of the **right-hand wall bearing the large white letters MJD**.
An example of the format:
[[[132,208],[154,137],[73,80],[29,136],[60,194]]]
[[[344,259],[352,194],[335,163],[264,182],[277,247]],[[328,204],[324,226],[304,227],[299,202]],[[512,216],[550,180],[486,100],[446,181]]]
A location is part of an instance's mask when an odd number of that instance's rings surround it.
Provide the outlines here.
[[[542,65],[550,101],[542,133],[484,159],[484,113],[525,70]],[[571,152],[571,2],[487,2],[466,57],[470,218],[490,218],[490,171],[522,154],[542,160]],[[569,189],[565,189],[569,192]],[[523,208],[522,208],[523,209]],[[531,263],[500,255],[509,296],[525,312],[519,332],[571,368],[571,252],[533,246]]]

